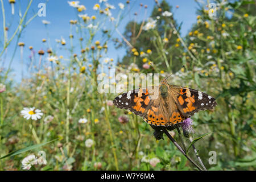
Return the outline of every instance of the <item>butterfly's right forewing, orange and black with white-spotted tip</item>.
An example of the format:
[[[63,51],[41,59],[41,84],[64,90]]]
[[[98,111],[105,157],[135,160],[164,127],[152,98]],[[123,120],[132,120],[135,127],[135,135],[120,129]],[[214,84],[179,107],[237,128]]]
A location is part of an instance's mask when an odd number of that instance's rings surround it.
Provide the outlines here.
[[[170,85],[170,90],[177,109],[185,117],[190,117],[200,110],[213,109],[217,105],[213,97],[199,90],[176,85]]]

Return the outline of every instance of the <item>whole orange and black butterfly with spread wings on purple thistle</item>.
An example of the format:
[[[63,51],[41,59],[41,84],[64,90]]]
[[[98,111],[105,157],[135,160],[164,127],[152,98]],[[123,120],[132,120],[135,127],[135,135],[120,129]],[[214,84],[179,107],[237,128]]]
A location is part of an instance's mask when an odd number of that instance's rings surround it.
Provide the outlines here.
[[[217,105],[208,94],[170,85],[164,79],[159,86],[140,88],[123,93],[114,99],[114,105],[129,109],[143,117],[152,126],[173,127],[200,110],[210,110]]]

